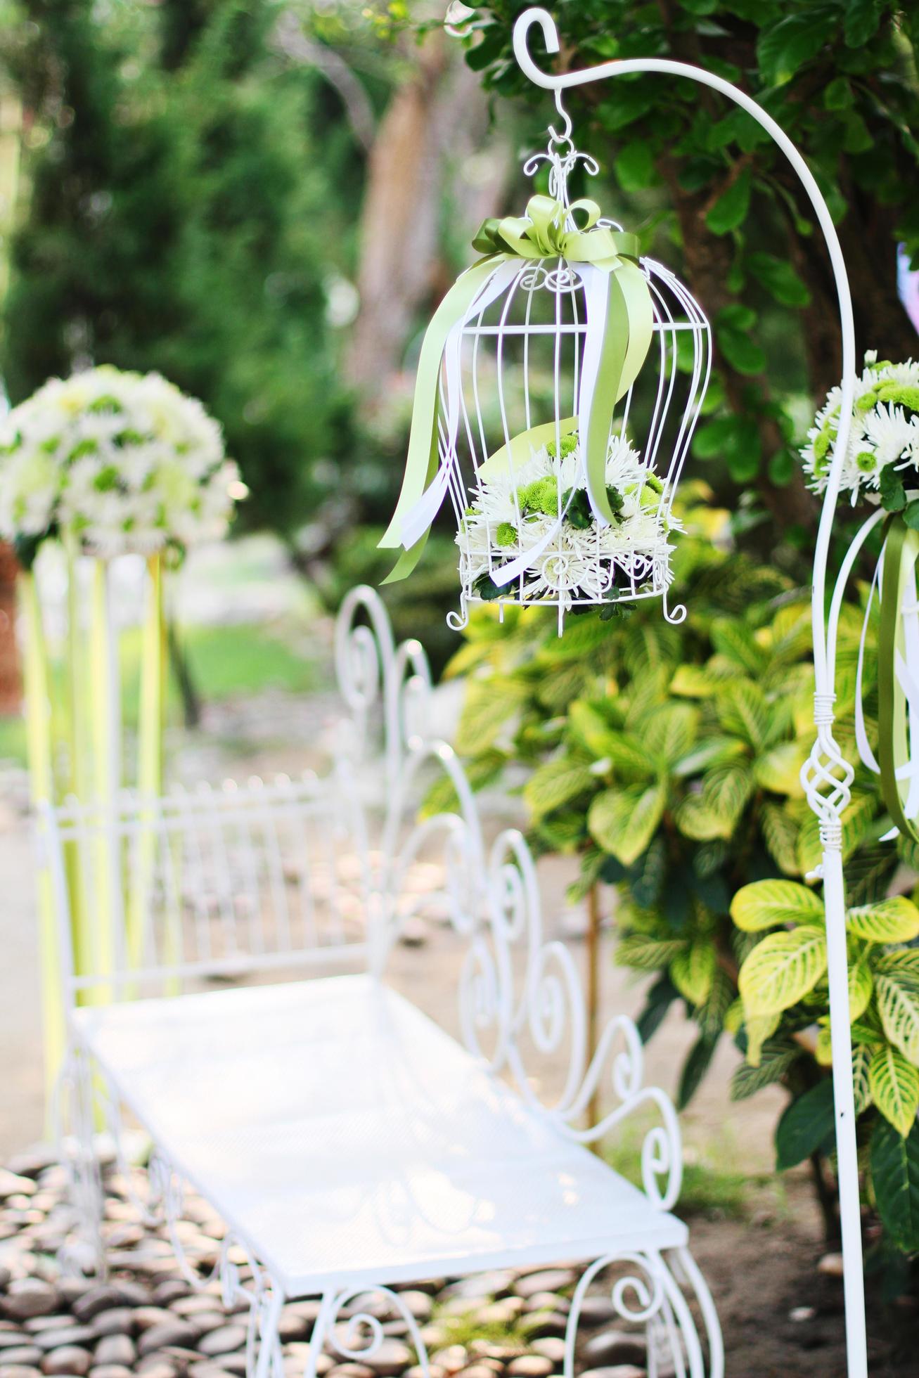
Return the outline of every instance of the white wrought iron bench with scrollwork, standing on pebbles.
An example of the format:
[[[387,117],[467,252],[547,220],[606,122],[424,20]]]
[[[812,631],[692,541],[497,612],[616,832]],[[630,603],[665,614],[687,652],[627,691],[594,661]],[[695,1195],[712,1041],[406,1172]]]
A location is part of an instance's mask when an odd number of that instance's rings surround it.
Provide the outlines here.
[[[125,798],[116,817],[72,802],[41,819],[69,995],[61,1115],[83,1246],[99,1254],[95,1116],[101,1104],[117,1144],[127,1108],[153,1145],[157,1199],[138,1209],[161,1213],[194,1286],[207,1279],[175,1228],[182,1184],[226,1222],[215,1275],[227,1302],[249,1302],[249,1378],[281,1378],[278,1317],[293,1298],[321,1298],[306,1378],[324,1346],[357,1359],[380,1344],[366,1293],[401,1313],[427,1372],[400,1283],[572,1259],[587,1266],[566,1378],[583,1298],[603,1279],[619,1316],[648,1333],[649,1374],[721,1378],[715,1309],[670,1214],[677,1116],[642,1086],[634,1024],[615,1018],[587,1065],[576,966],[544,941],[525,842],[506,830],[489,845],[453,752],[424,741],[423,653],[394,648],[371,590],[342,609],[336,661],[346,715],[327,779]],[[372,766],[379,707],[384,748]],[[431,769],[446,772],[457,808],[417,824]],[[74,849],[84,879],[106,867],[130,876],[110,949],[84,973],[66,912]],[[462,949],[462,1042],[387,983],[400,926],[431,901]],[[248,984],[193,988],[233,976]],[[533,1060],[559,1058],[562,1091],[546,1107]],[[615,1105],[588,1124],[610,1073]],[[654,1115],[643,1189],[587,1146],[641,1111]]]

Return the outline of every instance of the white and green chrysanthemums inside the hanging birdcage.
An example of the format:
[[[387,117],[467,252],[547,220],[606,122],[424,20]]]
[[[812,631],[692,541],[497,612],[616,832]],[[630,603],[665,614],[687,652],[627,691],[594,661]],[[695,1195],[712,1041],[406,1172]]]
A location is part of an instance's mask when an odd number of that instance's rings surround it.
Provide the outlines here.
[[[561,453],[551,441],[519,467],[481,478],[456,536],[467,590],[485,599],[546,601],[568,610],[667,587],[667,535],[678,522],[663,510],[660,480],[624,437],[610,437],[606,485],[616,521],[599,526],[576,434],[561,438]],[[533,561],[522,582],[497,586],[492,573],[528,551]]]

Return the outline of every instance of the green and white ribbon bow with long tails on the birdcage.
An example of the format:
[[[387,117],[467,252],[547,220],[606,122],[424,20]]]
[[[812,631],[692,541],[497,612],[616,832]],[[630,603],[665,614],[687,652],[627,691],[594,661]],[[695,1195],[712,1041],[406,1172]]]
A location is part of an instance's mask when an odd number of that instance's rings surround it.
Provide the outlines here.
[[[579,225],[577,219],[581,215],[583,220]],[[482,222],[473,240],[473,248],[484,258],[457,278],[434,313],[424,335],[415,380],[402,489],[393,520],[379,543],[380,550],[395,550],[402,544],[402,522],[422,500],[438,470],[438,383],[448,336],[473,309],[495,269],[514,258],[562,258],[572,263],[590,265],[606,274],[597,378],[587,397],[581,384],[580,430],[592,508],[603,521],[613,521],[606,496],[606,445],[616,402],[632,386],[648,356],[653,331],[653,306],[645,274],[638,263],[637,236],[598,225],[598,219],[599,205],[595,201],[579,200],[566,207],[553,197],[533,196],[526,205],[526,216],[491,218]],[[575,227],[568,229],[569,223]],[[595,329],[599,328],[597,322],[592,324]],[[590,310],[587,331],[590,338]],[[565,418],[558,424],[565,434],[575,429],[577,419]],[[497,455],[508,455],[508,446],[503,446]],[[497,459],[497,455],[486,460],[482,473],[486,466],[493,467],[492,460]],[[511,444],[510,457],[513,463],[519,463],[529,456],[519,448],[514,451]],[[405,579],[412,572],[424,550],[428,533],[430,526],[401,554],[384,583]]]

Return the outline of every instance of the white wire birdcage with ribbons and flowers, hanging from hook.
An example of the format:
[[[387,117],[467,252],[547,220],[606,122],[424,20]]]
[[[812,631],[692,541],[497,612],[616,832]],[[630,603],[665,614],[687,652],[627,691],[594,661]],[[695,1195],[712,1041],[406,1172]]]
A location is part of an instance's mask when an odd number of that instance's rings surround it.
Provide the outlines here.
[[[580,160],[550,131],[550,194],[485,222],[484,255],[438,309],[419,362],[402,495],[384,537],[413,568],[448,493],[462,627],[477,599],[558,609],[663,595],[672,506],[711,368],[689,291],[635,236],[569,203]],[[612,609],[610,609],[612,610]]]

